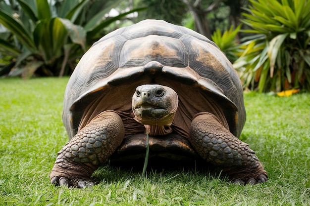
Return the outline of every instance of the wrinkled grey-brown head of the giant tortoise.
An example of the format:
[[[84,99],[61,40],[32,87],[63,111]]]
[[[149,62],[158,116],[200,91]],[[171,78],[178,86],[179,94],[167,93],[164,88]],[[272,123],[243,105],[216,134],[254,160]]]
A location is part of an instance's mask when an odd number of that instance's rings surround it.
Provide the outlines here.
[[[178,95],[170,87],[158,84],[138,86],[132,96],[135,120],[141,124],[170,125],[178,107]]]

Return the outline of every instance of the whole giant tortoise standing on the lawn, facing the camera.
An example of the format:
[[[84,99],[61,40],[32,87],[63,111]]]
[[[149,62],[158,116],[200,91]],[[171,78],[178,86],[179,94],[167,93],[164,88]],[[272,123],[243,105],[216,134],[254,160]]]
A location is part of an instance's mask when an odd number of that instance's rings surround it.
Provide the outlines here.
[[[267,180],[255,152],[239,140],[246,113],[237,73],[214,42],[181,26],[144,20],[95,42],[65,90],[69,142],[51,183],[83,188],[110,159],[197,155],[233,182]],[[142,149],[141,149],[142,148]]]

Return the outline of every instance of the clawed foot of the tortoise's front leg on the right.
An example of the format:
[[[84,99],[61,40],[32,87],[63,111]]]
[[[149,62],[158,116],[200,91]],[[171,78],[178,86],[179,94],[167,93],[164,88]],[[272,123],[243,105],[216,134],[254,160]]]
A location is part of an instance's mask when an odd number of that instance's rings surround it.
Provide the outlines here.
[[[263,169],[261,164],[259,164],[258,167],[251,169],[245,167],[232,167],[225,168],[223,171],[224,174],[228,175],[231,182],[241,185],[255,185],[266,182],[268,179],[267,172]]]

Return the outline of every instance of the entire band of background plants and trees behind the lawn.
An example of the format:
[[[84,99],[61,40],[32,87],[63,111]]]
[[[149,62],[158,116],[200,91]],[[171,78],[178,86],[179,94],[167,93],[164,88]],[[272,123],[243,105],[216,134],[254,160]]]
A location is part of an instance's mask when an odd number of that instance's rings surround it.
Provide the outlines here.
[[[309,0],[0,0],[0,76],[68,76],[105,34],[163,19],[214,41],[244,88],[310,91]]]

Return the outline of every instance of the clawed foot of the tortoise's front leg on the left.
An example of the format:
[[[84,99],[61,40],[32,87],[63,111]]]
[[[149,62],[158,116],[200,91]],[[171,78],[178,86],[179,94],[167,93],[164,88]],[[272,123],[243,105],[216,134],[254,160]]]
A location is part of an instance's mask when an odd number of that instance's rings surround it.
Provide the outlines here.
[[[93,173],[93,168],[87,165],[70,165],[63,168],[57,164],[52,168],[51,184],[55,186],[66,185],[68,187],[85,188],[94,186],[90,176]]]

